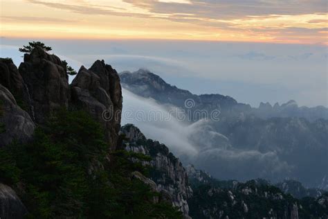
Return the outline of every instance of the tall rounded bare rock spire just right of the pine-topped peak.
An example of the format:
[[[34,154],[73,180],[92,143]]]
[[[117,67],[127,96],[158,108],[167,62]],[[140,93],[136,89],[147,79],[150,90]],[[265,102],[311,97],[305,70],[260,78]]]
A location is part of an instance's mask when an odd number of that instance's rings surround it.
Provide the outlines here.
[[[91,113],[104,125],[106,137],[115,150],[120,130],[122,91],[115,69],[97,60],[88,70],[81,67],[71,84],[72,105]]]

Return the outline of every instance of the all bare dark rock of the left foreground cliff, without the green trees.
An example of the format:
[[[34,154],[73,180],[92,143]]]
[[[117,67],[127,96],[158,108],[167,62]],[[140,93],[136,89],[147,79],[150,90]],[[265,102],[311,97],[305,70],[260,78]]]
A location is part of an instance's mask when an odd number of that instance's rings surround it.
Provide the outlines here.
[[[19,69],[10,58],[0,58],[0,84],[0,149],[32,141],[35,128],[59,109],[82,109],[102,123],[110,150],[115,150],[122,94],[118,73],[104,61],[89,70],[81,67],[69,85],[66,64],[36,47],[24,55]],[[22,218],[24,205],[10,187],[0,185],[0,218]]]

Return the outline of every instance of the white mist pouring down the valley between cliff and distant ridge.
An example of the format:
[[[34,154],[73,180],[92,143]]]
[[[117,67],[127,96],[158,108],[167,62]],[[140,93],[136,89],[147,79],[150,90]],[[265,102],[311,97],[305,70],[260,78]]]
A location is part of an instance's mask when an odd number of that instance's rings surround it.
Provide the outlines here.
[[[184,165],[194,164],[219,179],[238,180],[261,177],[279,181],[293,170],[274,151],[233,148],[228,137],[212,129],[212,121],[185,123],[170,114],[170,106],[126,89],[122,96],[122,125],[133,123],[147,138],[164,143]]]

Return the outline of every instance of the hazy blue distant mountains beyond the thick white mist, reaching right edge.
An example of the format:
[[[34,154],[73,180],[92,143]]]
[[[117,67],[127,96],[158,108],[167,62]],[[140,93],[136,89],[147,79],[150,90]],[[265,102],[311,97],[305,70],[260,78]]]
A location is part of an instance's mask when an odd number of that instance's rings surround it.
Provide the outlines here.
[[[197,148],[197,155],[180,155],[183,163],[195,164],[219,179],[289,178],[309,187],[322,184],[328,175],[325,107],[298,107],[291,100],[254,108],[230,96],[194,95],[145,69],[122,72],[120,79],[124,89],[186,115],[178,120],[188,124],[185,132],[192,130],[188,142]]]

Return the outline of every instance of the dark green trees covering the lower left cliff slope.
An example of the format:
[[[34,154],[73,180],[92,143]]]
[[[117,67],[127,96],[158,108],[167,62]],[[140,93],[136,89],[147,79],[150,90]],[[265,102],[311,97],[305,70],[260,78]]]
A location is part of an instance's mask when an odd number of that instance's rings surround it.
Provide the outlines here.
[[[19,194],[28,218],[182,218],[131,173],[147,174],[149,157],[109,153],[100,124],[82,111],[60,110],[33,142],[0,150],[0,180]],[[18,186],[23,185],[23,186]]]

